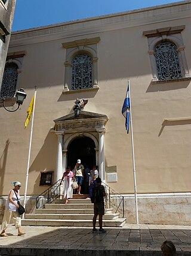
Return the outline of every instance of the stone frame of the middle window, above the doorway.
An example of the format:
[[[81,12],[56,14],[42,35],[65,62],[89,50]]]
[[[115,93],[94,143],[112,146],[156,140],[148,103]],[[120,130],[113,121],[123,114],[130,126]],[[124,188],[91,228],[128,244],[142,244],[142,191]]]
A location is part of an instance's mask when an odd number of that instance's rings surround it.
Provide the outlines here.
[[[64,62],[64,86],[63,93],[78,93],[82,91],[98,90],[98,76],[97,76],[97,43],[100,41],[100,37],[85,38],[82,40],[76,40],[68,43],[63,43],[62,46],[66,49],[66,59]],[[87,54],[92,59],[93,64],[93,87],[87,89],[72,90],[72,60],[77,55]]]

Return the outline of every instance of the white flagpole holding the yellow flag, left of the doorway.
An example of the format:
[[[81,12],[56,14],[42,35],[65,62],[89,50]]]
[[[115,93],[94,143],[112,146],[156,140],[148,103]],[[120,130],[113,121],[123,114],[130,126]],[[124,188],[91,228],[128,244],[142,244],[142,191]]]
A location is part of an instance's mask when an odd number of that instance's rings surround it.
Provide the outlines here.
[[[31,144],[32,144],[32,131],[33,131],[33,121],[35,115],[35,103],[36,103],[36,86],[35,86],[35,95],[34,95],[34,103],[33,103],[33,112],[32,112],[32,123],[30,128],[30,143],[29,143],[29,155],[28,155],[28,162],[27,162],[27,170],[26,170],[26,182],[25,182],[25,190],[24,190],[24,208],[26,206],[26,194],[27,194],[27,185],[28,185],[28,177],[29,177],[29,164],[30,164],[30,151],[31,151]],[[23,217],[24,219],[24,213]]]

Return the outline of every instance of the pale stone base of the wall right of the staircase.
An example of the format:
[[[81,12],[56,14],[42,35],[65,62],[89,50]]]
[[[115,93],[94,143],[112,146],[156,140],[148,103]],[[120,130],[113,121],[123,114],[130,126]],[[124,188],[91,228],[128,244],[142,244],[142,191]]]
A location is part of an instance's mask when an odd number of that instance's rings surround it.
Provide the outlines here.
[[[140,224],[191,224],[190,196],[141,197],[137,203]],[[134,198],[125,198],[125,218],[128,223],[136,223]]]

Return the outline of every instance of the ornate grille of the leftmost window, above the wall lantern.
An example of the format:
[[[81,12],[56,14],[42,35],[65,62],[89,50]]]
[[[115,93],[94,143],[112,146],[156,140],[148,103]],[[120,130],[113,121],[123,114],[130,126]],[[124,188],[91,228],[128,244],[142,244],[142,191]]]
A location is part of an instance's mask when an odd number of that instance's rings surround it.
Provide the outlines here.
[[[5,66],[4,76],[2,77],[1,98],[13,98],[16,93],[18,67],[11,63]]]

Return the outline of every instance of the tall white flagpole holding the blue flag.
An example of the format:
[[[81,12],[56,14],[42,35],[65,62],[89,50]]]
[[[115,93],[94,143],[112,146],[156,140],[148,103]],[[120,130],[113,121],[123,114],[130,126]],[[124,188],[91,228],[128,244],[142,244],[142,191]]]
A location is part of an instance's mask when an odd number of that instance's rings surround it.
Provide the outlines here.
[[[132,146],[132,156],[133,156],[133,177],[134,177],[134,193],[135,193],[135,211],[136,211],[136,222],[138,224],[138,207],[137,207],[137,182],[136,182],[136,172],[135,172],[135,156],[134,156],[134,141],[133,141],[133,121],[131,115],[131,94],[130,94],[130,80],[128,79],[129,86],[129,97],[130,97],[130,123],[131,123],[131,146]]]

